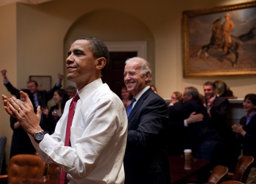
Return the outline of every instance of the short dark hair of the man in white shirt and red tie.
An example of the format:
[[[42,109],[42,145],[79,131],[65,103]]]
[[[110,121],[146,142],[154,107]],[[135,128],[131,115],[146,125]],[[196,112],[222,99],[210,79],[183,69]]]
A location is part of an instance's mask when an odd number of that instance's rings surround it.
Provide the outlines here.
[[[105,58],[107,63],[106,65],[102,68],[101,73],[103,73],[107,65],[109,63],[109,50],[105,43],[103,43],[101,40],[98,40],[97,38],[93,37],[79,37],[76,40],[88,40],[90,42],[89,49],[93,52],[94,58]]]

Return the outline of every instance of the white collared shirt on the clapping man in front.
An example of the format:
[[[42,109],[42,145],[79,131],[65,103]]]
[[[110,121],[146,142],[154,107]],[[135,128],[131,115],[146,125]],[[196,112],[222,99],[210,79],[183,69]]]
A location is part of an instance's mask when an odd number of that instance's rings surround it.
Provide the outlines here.
[[[123,184],[123,158],[127,141],[127,116],[123,102],[107,84],[97,79],[78,92],[70,142],[64,146],[68,108],[55,133],[34,142],[45,163],[55,162],[67,172],[69,184]],[[40,148],[39,148],[40,147]]]

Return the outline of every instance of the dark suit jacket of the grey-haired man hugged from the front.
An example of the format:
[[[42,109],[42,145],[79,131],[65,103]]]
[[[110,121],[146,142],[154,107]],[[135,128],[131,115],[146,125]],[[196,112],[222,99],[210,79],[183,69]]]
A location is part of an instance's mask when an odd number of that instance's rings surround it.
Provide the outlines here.
[[[217,130],[213,128],[205,106],[197,100],[188,100],[180,108],[169,107],[170,126],[174,129],[172,131],[175,131],[175,127],[184,127],[183,120],[187,119],[192,112],[204,115],[203,121],[191,123],[187,127],[188,133],[184,148],[192,149],[192,154],[196,157],[198,146],[201,142],[220,141],[220,137]]]

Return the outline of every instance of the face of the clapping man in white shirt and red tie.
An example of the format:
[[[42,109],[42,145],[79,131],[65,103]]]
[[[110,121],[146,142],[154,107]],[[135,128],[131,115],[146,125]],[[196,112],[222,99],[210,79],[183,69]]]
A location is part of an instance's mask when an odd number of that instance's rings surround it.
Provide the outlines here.
[[[66,59],[67,78],[77,84],[78,90],[100,78],[101,69],[106,65],[105,58],[94,58],[89,46],[88,40],[76,40]]]

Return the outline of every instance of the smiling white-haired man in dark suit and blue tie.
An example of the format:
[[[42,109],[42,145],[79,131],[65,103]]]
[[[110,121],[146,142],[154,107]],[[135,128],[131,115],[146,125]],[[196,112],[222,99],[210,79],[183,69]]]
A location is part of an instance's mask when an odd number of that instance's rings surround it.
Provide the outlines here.
[[[167,105],[150,88],[151,73],[145,59],[126,61],[124,84],[136,100],[127,108],[125,184],[170,184]]]

